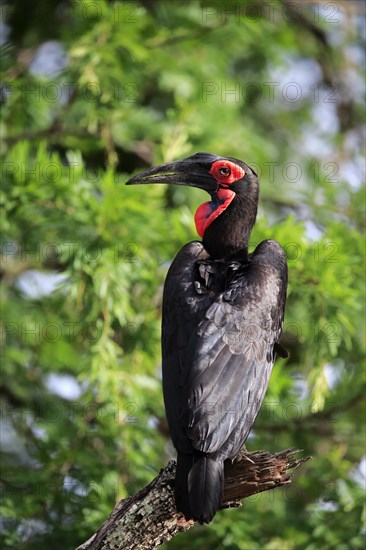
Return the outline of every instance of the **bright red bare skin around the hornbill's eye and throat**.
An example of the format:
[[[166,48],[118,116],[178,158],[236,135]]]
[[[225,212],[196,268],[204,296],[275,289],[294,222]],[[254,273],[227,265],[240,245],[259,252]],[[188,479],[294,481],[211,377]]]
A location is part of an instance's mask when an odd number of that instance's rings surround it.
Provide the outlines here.
[[[218,201],[204,202],[197,208],[194,221],[200,237],[203,237],[207,227],[226,210],[234,199],[235,193],[230,190],[230,184],[242,179],[245,176],[245,171],[241,166],[229,160],[218,160],[211,166],[210,174],[220,184],[216,193]]]

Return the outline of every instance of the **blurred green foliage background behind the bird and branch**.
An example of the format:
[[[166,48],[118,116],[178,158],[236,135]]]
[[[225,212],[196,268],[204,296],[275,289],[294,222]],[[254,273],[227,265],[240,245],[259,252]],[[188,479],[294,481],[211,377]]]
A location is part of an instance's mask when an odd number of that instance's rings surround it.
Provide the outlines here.
[[[196,151],[256,169],[252,246],[288,256],[291,357],[247,447],[314,459],[165,547],[364,548],[364,11],[1,3],[2,548],[74,548],[174,457],[162,286],[207,196],[124,182]]]

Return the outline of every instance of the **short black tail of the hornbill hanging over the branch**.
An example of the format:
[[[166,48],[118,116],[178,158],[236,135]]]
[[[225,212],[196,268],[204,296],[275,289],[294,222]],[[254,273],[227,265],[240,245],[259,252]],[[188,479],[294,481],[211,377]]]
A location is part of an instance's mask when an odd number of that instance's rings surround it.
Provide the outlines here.
[[[210,523],[222,497],[223,462],[204,454],[178,454],[175,477],[177,510],[187,519]]]

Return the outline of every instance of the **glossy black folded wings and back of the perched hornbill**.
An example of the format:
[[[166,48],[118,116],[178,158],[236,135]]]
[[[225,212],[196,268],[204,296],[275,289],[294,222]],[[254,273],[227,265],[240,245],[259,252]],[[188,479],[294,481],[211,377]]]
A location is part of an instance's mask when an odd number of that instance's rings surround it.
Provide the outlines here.
[[[243,445],[267,389],[286,286],[275,241],[263,241],[249,263],[210,262],[199,242],[174,260],[164,289],[163,386],[179,452],[225,459]]]

